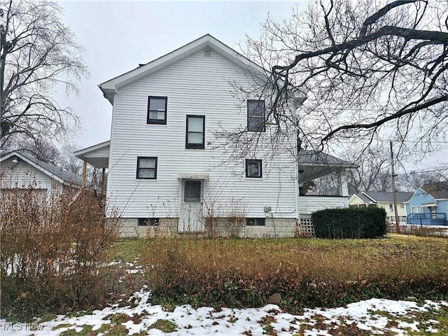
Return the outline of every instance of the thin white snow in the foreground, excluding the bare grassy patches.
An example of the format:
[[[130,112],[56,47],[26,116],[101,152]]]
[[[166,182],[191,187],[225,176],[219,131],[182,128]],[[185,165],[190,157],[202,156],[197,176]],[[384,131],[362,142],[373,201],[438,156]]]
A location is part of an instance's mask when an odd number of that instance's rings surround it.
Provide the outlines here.
[[[92,314],[85,316],[67,317],[58,315],[52,321],[41,323],[39,328],[37,328],[38,330],[32,331],[25,328],[18,330],[11,323],[0,320],[0,333],[2,336],[28,336],[31,333],[35,336],[59,336],[61,332],[67,329],[80,331],[83,325],[90,325],[93,330],[97,330],[101,328],[101,325],[111,322],[110,319],[107,321],[103,320],[109,314],[127,314],[129,316],[138,314],[141,316],[139,323],[134,323],[132,320],[123,323],[129,335],[137,334],[142,330],[145,330],[148,335],[165,335],[161,330],[148,330],[149,326],[159,319],[176,323],[176,331],[169,335],[241,335],[243,332],[251,332],[252,335],[262,335],[265,327],[262,319],[265,316],[272,317],[271,328],[279,336],[300,333],[300,325],[303,323],[307,324],[306,328],[304,328],[304,335],[307,336],[330,335],[328,332],[330,328],[335,328],[335,325],[340,326],[341,323],[345,323],[345,325],[356,323],[358,328],[369,330],[372,332],[372,335],[381,335],[381,333],[384,334],[388,330],[395,332],[397,335],[406,335],[406,330],[403,330],[403,328],[417,330],[419,327],[424,327],[427,332],[435,332],[436,330],[428,325],[419,325],[418,322],[400,322],[398,326],[388,328],[388,318],[379,316],[374,311],[385,311],[388,314],[399,317],[412,313],[412,311],[428,311],[428,309],[439,309],[442,305],[448,306],[448,302],[426,301],[423,307],[421,307],[416,302],[410,301],[370,299],[334,309],[305,309],[301,315],[283,313],[279,306],[275,304],[248,309],[193,308],[186,304],[176,307],[174,311],[169,312],[163,310],[160,305],[146,303],[148,296],[148,289],[143,288],[139,292],[134,293],[132,297],[132,302],[137,302],[137,307],[118,307],[118,304],[115,304],[112,307],[95,310]],[[317,316],[319,317],[317,318]],[[306,321],[309,321],[309,323]],[[323,321],[323,323],[316,324],[318,321]],[[52,330],[52,328],[62,323],[68,323],[71,326],[69,328]],[[327,330],[318,329],[323,328],[325,325],[328,325]]]

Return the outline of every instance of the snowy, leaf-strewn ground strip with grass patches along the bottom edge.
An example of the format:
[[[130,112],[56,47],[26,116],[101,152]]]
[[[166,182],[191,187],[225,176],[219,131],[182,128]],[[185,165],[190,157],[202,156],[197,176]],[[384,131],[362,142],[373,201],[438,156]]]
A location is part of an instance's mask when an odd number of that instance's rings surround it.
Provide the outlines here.
[[[437,311],[448,308],[448,302],[419,305],[371,299],[335,309],[306,309],[299,315],[286,314],[274,304],[251,309],[193,309],[183,305],[166,311],[146,303],[148,295],[143,289],[134,294],[130,306],[114,305],[77,317],[59,315],[43,323],[0,320],[0,334],[58,336],[76,330],[83,335],[167,335],[162,330],[174,330],[169,335],[407,335],[416,330],[437,332]]]

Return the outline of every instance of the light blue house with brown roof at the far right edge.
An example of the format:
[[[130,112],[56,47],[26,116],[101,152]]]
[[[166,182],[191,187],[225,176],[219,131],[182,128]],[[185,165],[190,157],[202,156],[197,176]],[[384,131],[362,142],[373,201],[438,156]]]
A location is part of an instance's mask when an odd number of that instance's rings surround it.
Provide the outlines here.
[[[405,203],[408,224],[448,225],[448,181],[417,188]]]

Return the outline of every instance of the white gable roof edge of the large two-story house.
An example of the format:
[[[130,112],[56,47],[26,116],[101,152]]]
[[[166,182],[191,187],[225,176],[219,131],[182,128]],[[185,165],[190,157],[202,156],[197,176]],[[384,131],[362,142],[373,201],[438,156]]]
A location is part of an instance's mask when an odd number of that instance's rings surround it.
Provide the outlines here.
[[[195,52],[198,52],[204,48],[211,48],[214,52],[218,52],[219,55],[229,59],[231,62],[241,66],[241,68],[251,71],[258,76],[262,76],[263,78],[268,78],[270,76],[270,72],[266,69],[263,69],[255,62],[252,62],[250,59],[244,57],[239,52],[228,47],[228,45],[225,45],[210,34],[206,34],[200,38],[197,38],[193,42],[183,45],[181,48],[177,48],[166,55],[154,59],[149,63],[139,64],[136,69],[123,73],[120,76],[110,80],[106,80],[106,82],[101,83],[98,86],[102,90],[104,97],[106,97],[106,99],[113,104],[113,94],[115,94],[120,87],[148,76],[149,74],[154,73],[165,66],[174,64],[175,62],[193,55]],[[304,93],[302,94],[305,96]]]

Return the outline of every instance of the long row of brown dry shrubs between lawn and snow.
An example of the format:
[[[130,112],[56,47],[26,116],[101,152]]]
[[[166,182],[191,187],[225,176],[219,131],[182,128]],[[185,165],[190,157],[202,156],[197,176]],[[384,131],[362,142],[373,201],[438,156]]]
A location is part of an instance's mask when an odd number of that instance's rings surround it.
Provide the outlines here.
[[[291,312],[372,297],[448,298],[446,244],[385,240],[159,237],[139,254],[151,303],[167,306],[260,307],[274,293]]]

